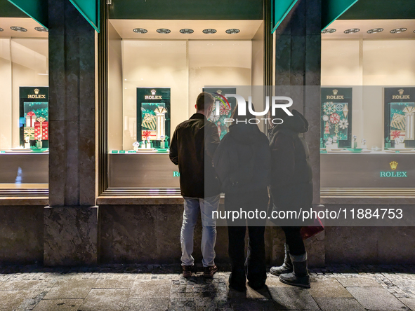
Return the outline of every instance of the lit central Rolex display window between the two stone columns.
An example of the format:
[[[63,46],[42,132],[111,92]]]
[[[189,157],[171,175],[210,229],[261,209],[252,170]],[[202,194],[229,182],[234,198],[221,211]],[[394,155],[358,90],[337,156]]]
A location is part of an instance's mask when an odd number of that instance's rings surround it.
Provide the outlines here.
[[[109,189],[178,193],[171,136],[200,92],[263,85],[263,21],[109,20],[108,39]],[[235,105],[209,116],[220,137]]]

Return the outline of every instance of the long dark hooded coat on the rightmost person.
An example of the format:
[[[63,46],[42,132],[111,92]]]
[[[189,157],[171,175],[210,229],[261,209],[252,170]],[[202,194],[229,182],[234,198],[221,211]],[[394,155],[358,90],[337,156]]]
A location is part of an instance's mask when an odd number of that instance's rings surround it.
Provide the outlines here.
[[[271,193],[277,206],[312,207],[310,152],[303,137],[308,121],[298,111],[292,113],[271,132]]]

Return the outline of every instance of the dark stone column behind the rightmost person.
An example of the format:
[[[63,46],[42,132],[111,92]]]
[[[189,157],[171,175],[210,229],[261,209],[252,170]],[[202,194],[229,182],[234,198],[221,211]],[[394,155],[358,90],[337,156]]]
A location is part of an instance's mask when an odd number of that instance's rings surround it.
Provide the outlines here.
[[[291,85],[294,109],[310,123],[314,204],[320,204],[320,75],[322,0],[298,0],[275,32],[275,85]],[[295,88],[298,87],[298,88]],[[272,253],[282,258],[284,233],[274,228]],[[307,240],[310,265],[324,265],[324,233]]]

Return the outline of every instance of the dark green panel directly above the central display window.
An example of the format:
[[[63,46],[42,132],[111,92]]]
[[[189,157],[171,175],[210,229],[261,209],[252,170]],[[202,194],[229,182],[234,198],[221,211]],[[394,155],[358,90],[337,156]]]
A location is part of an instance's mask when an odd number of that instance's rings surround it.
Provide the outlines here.
[[[263,0],[112,0],[111,19],[262,20]]]

